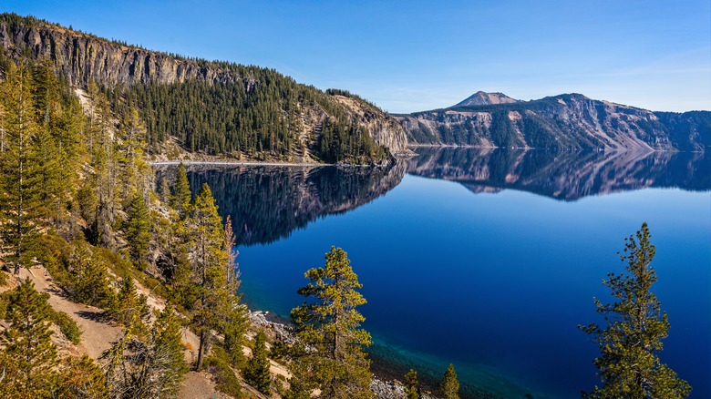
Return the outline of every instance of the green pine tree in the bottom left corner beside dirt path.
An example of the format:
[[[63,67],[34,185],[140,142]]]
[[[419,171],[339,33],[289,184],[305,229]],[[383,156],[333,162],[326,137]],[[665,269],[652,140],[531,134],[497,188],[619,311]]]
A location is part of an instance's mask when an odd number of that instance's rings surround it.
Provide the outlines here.
[[[5,347],[0,358],[0,369],[5,370],[0,394],[5,397],[49,397],[56,384],[59,362],[51,341],[47,297],[36,292],[29,279],[10,294],[5,311],[9,326],[0,334],[0,344]]]

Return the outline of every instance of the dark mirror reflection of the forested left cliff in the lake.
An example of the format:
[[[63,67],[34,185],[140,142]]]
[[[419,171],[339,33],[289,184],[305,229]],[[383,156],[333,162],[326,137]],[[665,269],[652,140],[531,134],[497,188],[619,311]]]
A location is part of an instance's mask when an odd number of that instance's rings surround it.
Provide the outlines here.
[[[220,214],[232,216],[238,245],[288,237],[310,221],[353,210],[399,184],[405,164],[389,169],[339,167],[188,167],[191,189],[207,182]],[[160,167],[172,177],[175,167]]]

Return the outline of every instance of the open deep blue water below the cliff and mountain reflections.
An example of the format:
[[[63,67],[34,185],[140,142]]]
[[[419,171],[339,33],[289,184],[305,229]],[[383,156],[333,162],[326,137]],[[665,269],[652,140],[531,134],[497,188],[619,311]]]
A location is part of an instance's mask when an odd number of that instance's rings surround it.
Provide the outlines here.
[[[407,170],[423,174],[416,167],[411,162]],[[525,184],[508,189],[489,179],[472,186],[448,176],[407,174],[375,200],[316,211],[301,228],[241,245],[244,300],[288,316],[302,301],[296,289],[306,282],[304,271],[323,266],[331,245],[342,247],[363,283],[364,327],[379,361],[437,377],[454,363],[462,383],[503,397],[579,397],[599,384],[592,364],[598,351],[576,326],[599,322],[593,296],[609,298],[602,280],[623,270],[616,252],[646,221],[657,250],[653,291],[672,326],[660,356],[692,384],[692,397],[711,397],[708,188],[556,200]],[[210,181],[200,173],[191,178]],[[242,224],[236,229],[253,230]]]

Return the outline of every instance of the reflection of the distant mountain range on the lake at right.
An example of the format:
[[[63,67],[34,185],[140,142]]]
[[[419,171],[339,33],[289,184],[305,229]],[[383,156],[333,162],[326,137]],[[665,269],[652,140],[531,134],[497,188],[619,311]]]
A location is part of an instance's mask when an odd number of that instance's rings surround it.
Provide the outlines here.
[[[711,156],[689,152],[557,152],[417,148],[407,173],[453,180],[474,192],[520,189],[557,200],[646,187],[711,189]]]

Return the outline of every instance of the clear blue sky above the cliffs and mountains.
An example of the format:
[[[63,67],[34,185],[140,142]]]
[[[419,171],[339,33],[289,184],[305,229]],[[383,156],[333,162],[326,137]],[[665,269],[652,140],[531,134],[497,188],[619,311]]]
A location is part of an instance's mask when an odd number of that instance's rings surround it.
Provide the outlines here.
[[[448,107],[479,90],[711,109],[709,0],[0,0],[0,11],[273,67],[390,112]]]

